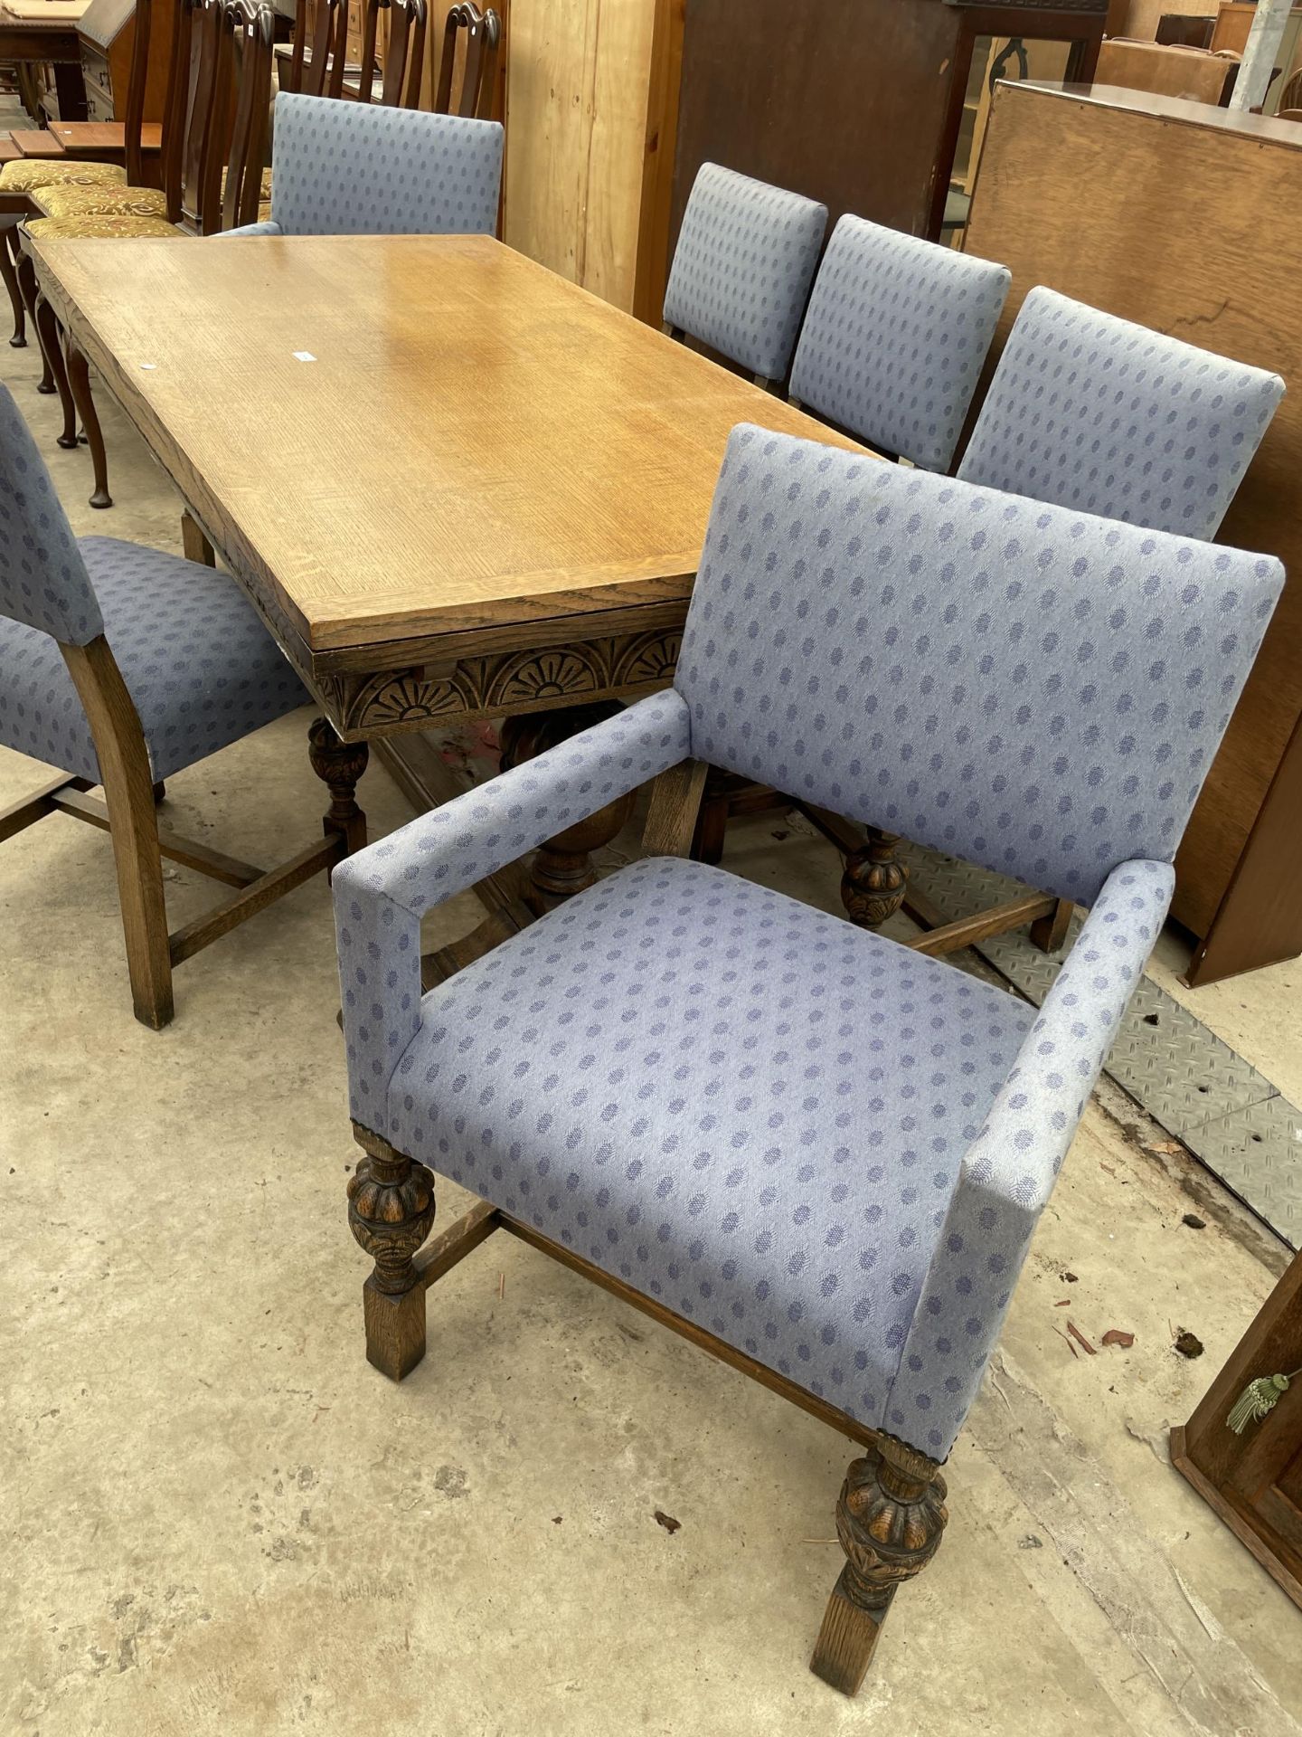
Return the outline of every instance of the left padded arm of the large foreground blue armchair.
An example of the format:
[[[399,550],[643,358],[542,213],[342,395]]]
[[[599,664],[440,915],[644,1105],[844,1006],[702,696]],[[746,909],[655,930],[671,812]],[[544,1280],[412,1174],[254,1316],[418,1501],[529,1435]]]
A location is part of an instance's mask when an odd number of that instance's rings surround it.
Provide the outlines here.
[[[333,874],[352,1119],[387,1134],[394,1068],[420,1030],[420,919],[691,754],[668,688],[342,862]]]

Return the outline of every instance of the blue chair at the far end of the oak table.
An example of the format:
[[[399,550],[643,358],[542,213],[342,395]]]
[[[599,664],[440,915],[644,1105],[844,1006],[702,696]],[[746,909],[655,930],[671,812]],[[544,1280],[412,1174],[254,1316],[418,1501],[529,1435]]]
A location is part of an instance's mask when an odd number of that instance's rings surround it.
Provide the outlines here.
[[[276,97],[271,219],[241,234],[493,234],[495,120]]]

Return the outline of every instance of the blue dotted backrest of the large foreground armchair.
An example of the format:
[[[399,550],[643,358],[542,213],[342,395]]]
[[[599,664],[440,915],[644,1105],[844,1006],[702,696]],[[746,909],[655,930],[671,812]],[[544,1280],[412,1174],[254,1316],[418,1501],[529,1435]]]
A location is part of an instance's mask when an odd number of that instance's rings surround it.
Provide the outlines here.
[[[1172,860],[1281,584],[741,426],[674,684],[698,759],[1088,905]]]

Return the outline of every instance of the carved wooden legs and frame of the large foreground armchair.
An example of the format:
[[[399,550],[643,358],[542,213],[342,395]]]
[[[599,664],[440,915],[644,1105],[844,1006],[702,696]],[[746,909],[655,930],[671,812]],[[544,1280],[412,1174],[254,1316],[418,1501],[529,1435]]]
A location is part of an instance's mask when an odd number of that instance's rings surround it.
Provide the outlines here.
[[[708,773],[703,761],[689,759],[653,782],[642,830],[648,855],[691,853]],[[457,964],[469,964],[496,938],[479,929],[470,938],[472,945],[462,943],[448,954],[455,954]],[[927,952],[929,940],[924,936],[915,948]],[[837,1537],[845,1565],[832,1589],[809,1666],[833,1688],[854,1695],[871,1664],[896,1589],[920,1574],[941,1544],[948,1522],[941,1463],[896,1436],[866,1428],[488,1200],[470,1207],[422,1251],[434,1225],[434,1172],[361,1122],[352,1122],[352,1134],[365,1159],[347,1185],[349,1226],[373,1261],[363,1285],[366,1358],[391,1381],[411,1374],[425,1355],[429,1287],[493,1232],[505,1230],[863,1447],[863,1454],[851,1461],[837,1499]]]

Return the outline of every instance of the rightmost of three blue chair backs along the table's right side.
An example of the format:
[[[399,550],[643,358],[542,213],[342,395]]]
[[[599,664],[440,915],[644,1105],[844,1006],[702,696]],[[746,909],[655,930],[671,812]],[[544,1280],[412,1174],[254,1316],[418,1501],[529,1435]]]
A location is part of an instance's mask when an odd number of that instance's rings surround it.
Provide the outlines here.
[[[1278,373],[1036,288],[958,476],[1212,538],[1283,394]]]

